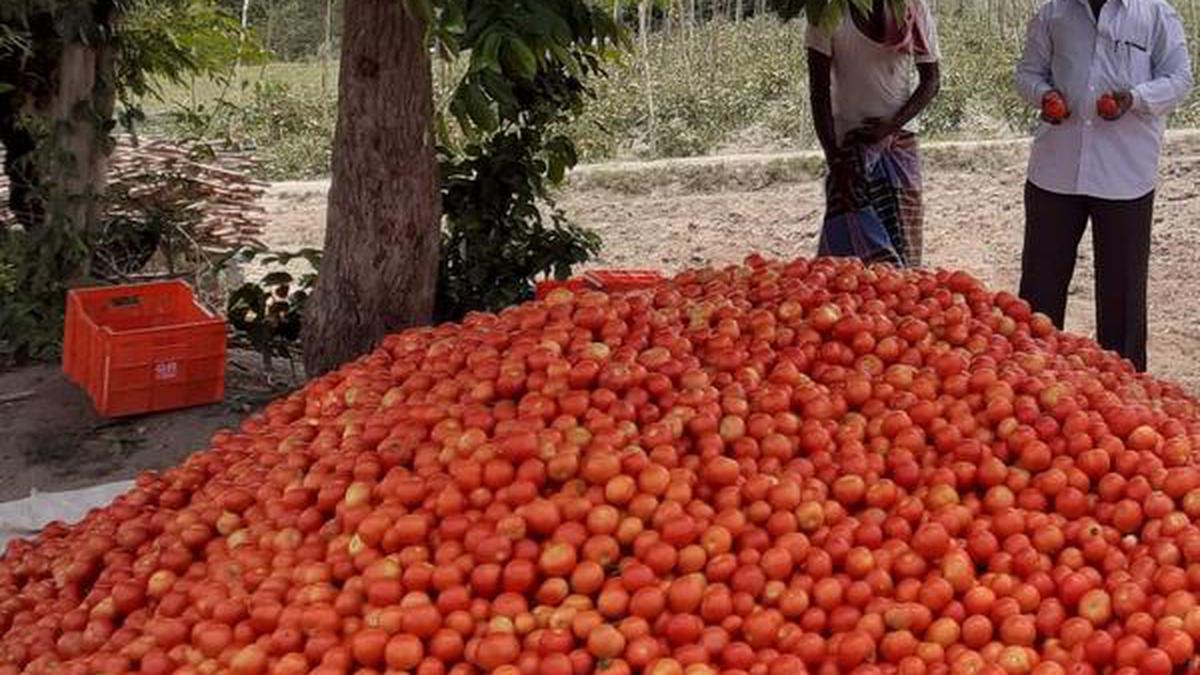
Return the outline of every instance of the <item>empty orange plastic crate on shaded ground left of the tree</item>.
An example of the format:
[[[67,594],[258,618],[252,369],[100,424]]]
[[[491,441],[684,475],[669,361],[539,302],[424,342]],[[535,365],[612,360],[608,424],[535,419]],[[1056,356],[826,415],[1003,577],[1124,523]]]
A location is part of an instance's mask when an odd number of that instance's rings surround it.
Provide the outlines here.
[[[62,371],[104,417],[224,398],[224,319],[182,281],[67,293]]]

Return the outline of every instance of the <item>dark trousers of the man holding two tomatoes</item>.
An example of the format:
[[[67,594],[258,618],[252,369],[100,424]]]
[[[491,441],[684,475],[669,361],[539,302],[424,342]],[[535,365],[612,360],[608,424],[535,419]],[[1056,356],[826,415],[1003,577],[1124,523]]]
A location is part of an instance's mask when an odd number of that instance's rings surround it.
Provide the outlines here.
[[[1025,184],[1020,295],[1060,329],[1087,221],[1096,251],[1096,328],[1105,350],[1146,370],[1146,276],[1154,193],[1129,201],[1058,195]]]

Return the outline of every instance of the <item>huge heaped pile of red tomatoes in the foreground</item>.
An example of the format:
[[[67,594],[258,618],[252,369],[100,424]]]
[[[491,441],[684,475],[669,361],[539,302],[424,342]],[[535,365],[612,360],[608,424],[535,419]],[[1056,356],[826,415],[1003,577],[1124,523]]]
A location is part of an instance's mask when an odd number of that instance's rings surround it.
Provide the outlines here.
[[[389,336],[0,561],[0,675],[1193,667],[1196,405],[962,273]]]

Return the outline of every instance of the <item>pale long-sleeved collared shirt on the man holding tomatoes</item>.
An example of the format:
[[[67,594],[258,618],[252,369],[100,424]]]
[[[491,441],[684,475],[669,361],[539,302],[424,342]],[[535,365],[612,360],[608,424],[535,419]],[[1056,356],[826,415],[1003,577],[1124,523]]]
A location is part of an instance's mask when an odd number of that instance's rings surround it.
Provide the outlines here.
[[[1192,90],[1183,24],[1165,0],[1049,0],[1030,22],[1016,89],[1033,106],[1058,90],[1070,118],[1034,133],[1030,181],[1062,195],[1135,199],[1154,189],[1166,115]],[[1105,91],[1128,90],[1133,108],[1097,115]]]

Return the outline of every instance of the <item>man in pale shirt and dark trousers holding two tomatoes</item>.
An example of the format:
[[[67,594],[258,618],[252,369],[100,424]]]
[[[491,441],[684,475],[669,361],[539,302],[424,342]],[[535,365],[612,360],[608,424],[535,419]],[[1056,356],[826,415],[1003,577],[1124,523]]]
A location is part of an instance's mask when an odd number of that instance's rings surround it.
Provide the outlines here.
[[[1043,109],[1025,186],[1020,295],[1062,327],[1091,220],[1097,338],[1145,370],[1158,157],[1165,118],[1192,90],[1178,14],[1166,0],[1049,0],[1030,22],[1016,89]],[[1055,107],[1066,114],[1054,117]]]

